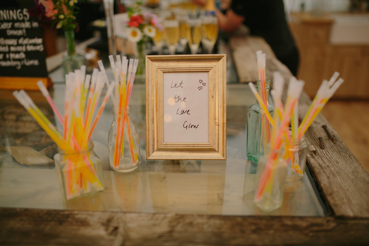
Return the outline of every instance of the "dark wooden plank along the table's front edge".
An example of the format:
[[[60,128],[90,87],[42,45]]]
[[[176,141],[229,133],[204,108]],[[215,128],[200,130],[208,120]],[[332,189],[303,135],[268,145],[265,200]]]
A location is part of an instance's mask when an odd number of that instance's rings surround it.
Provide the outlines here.
[[[367,245],[369,219],[0,209],[1,245]]]

